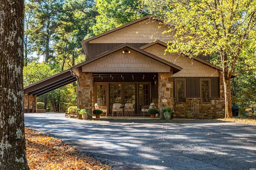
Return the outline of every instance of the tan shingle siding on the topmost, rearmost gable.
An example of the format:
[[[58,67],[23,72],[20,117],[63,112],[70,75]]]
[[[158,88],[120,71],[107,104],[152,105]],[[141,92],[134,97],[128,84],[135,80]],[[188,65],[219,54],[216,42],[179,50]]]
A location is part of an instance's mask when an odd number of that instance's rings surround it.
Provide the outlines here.
[[[159,26],[162,26],[159,28]],[[160,24],[159,21],[146,19],[134,23],[97,39],[89,43],[152,43],[156,39],[167,43],[173,38],[172,33],[162,34],[163,31],[169,30],[167,25]]]

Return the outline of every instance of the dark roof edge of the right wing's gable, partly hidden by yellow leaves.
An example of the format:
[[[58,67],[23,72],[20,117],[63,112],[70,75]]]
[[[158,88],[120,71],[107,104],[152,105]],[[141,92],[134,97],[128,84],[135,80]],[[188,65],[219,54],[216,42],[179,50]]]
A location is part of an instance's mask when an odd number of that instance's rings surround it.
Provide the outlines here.
[[[153,46],[153,45],[155,45],[155,44],[162,45],[163,47],[166,47],[166,48],[167,48],[167,44],[166,44],[166,43],[163,43],[162,41],[156,40],[156,41],[154,41],[153,43],[149,43],[149,44],[147,44],[147,45],[144,45],[144,46],[140,47],[140,49],[143,49],[143,50],[144,50],[144,49],[146,49],[146,48],[148,48],[148,47],[151,47],[151,46]],[[204,61],[204,60],[202,60],[202,59],[199,59],[199,58],[197,58],[197,57],[189,57],[189,56],[187,56],[187,55],[184,55],[184,56],[186,56],[186,57],[188,57],[188,58],[190,58],[190,59],[193,59],[193,60],[195,60],[195,61],[198,61],[199,63],[202,63],[202,64],[205,64],[205,65],[207,65],[207,66],[210,66],[210,67],[212,67],[212,68],[216,68],[216,69],[219,70],[219,71],[223,71],[221,67],[216,66],[216,65],[214,65],[214,64],[211,64],[211,63],[209,63],[209,62],[207,62],[207,61]]]

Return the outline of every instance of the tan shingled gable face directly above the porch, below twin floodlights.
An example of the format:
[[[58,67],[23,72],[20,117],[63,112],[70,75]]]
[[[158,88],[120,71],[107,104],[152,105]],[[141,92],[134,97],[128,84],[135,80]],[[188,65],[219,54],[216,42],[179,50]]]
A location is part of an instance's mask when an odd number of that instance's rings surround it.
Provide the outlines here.
[[[136,51],[123,54],[122,50],[106,55],[82,66],[83,72],[170,72],[170,66]]]

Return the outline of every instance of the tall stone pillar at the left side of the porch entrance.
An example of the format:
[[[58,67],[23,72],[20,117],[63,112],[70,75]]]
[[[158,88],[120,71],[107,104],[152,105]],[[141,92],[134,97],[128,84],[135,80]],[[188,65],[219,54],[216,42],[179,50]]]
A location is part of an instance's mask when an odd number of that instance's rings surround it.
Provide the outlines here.
[[[93,77],[92,72],[82,72],[79,69],[78,108],[86,109],[92,115]]]

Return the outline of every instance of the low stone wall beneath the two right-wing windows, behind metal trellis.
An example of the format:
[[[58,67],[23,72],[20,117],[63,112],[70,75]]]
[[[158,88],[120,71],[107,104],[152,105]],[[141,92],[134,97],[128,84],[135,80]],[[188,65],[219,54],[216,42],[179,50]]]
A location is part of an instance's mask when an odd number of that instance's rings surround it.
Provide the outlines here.
[[[199,100],[199,118],[215,119],[225,117],[225,102],[224,102],[224,84],[222,73],[220,75],[220,98],[210,98],[209,103],[202,103],[202,98]],[[186,102],[182,104],[176,103],[174,98],[174,118],[192,118],[191,100],[186,98]]]

